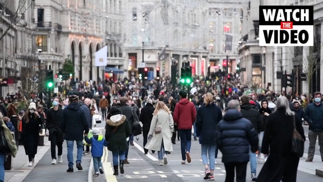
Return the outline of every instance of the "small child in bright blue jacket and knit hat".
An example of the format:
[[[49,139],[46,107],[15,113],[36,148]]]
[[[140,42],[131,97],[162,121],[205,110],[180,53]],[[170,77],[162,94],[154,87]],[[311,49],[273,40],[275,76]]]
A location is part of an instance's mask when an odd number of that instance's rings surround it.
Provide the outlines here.
[[[94,164],[94,175],[95,177],[99,176],[99,171],[101,174],[103,174],[102,169],[102,162],[101,158],[103,156],[103,147],[105,143],[105,139],[103,138],[103,135],[100,135],[100,129],[99,128],[93,128],[92,129],[93,137],[91,139],[88,138],[88,136],[85,136],[84,139],[88,144],[91,144],[91,153],[93,158],[93,164]]]

